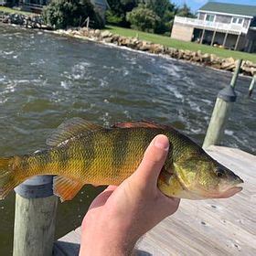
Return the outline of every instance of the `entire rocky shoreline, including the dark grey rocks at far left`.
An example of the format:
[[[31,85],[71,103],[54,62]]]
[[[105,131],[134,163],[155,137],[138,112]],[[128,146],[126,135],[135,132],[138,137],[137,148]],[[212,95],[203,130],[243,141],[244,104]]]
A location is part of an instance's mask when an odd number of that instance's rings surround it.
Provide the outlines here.
[[[215,70],[233,72],[236,69],[237,61],[233,58],[219,58],[215,54],[202,53],[200,50],[191,51],[177,48],[165,47],[161,44],[155,44],[149,41],[141,40],[137,37],[123,37],[112,34],[109,30],[91,29],[86,27],[74,27],[69,29],[52,30],[43,24],[40,16],[26,16],[21,14],[2,13],[0,23],[9,26],[19,26],[23,28],[32,28],[46,32],[58,34],[67,37],[76,37],[98,42],[115,48],[139,51],[142,53],[153,54],[166,59],[182,60],[186,63],[208,67]],[[1,16],[1,12],[0,12]],[[256,63],[250,60],[243,60],[240,68],[240,74],[248,77],[256,75]]]

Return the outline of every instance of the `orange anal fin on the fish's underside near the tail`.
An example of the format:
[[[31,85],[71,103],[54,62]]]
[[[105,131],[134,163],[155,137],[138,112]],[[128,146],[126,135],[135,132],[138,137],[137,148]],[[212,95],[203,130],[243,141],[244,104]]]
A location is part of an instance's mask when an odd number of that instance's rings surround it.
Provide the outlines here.
[[[53,192],[61,202],[73,199],[82,186],[82,183],[65,176],[55,176],[53,179]]]

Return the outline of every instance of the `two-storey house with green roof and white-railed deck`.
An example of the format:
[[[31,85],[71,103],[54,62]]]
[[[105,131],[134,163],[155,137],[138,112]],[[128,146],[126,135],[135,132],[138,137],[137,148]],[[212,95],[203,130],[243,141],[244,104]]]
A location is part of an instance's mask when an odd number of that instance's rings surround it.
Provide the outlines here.
[[[197,18],[176,16],[172,38],[256,52],[256,5],[208,2]]]

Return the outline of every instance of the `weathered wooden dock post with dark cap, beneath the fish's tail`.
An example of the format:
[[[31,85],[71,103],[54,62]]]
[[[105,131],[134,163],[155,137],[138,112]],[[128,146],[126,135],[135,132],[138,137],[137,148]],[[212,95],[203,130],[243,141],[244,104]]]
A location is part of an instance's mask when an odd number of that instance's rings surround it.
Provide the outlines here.
[[[13,256],[52,255],[58,197],[53,176],[35,176],[15,188]]]

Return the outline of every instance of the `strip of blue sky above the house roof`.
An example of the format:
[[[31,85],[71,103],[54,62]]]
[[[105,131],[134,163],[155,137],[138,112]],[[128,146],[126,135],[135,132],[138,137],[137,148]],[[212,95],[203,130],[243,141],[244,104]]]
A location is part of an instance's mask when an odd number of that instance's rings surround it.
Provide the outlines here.
[[[216,0],[212,2],[222,2],[229,4],[240,4],[240,5],[256,5],[255,0]],[[208,0],[171,0],[172,3],[176,5],[183,5],[186,3],[193,11],[196,11],[200,6],[206,4]],[[241,3],[242,2],[242,3]]]

